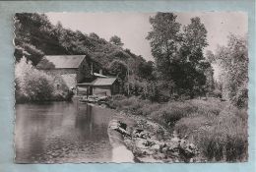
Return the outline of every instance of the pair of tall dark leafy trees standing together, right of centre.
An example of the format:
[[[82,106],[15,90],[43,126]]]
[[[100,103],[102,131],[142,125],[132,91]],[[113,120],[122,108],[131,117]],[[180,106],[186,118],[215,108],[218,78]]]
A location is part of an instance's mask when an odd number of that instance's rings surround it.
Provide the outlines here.
[[[151,41],[161,81],[168,94],[189,94],[190,97],[206,93],[205,70],[211,68],[203,55],[207,43],[207,30],[200,18],[192,18],[182,30],[173,13],[158,13],[150,18],[153,30],[147,38]]]

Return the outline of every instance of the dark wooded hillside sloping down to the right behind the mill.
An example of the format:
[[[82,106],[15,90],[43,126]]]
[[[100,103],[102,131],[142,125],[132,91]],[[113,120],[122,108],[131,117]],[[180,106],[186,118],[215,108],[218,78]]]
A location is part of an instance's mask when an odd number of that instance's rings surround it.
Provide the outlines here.
[[[109,70],[111,63],[117,61],[127,66],[129,62],[131,74],[139,76],[139,66],[148,64],[141,56],[100,38],[94,32],[88,34],[80,30],[64,29],[60,23],[54,26],[44,14],[16,14],[15,35],[16,61],[25,56],[34,66],[43,55],[87,54]]]

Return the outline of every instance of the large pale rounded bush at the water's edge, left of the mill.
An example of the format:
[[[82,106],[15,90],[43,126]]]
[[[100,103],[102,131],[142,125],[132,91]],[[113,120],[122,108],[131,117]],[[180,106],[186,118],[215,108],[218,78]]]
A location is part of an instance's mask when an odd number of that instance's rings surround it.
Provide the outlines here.
[[[31,62],[22,58],[15,67],[15,98],[17,102],[70,100],[69,89],[56,90],[53,78],[33,68]]]

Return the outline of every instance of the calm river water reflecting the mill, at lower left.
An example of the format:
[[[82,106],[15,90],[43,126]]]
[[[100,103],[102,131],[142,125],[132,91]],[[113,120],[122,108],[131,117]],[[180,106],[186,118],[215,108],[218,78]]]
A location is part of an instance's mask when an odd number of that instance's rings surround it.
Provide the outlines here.
[[[16,105],[16,162],[109,162],[113,111],[78,102]]]

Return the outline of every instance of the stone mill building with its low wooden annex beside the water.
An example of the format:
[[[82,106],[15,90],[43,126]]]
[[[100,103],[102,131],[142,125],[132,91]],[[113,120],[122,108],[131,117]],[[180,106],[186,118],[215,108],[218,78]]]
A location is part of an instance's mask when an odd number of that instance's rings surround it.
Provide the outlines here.
[[[108,96],[121,90],[118,80],[106,76],[107,72],[88,55],[46,55],[36,68],[53,77],[56,89]]]

